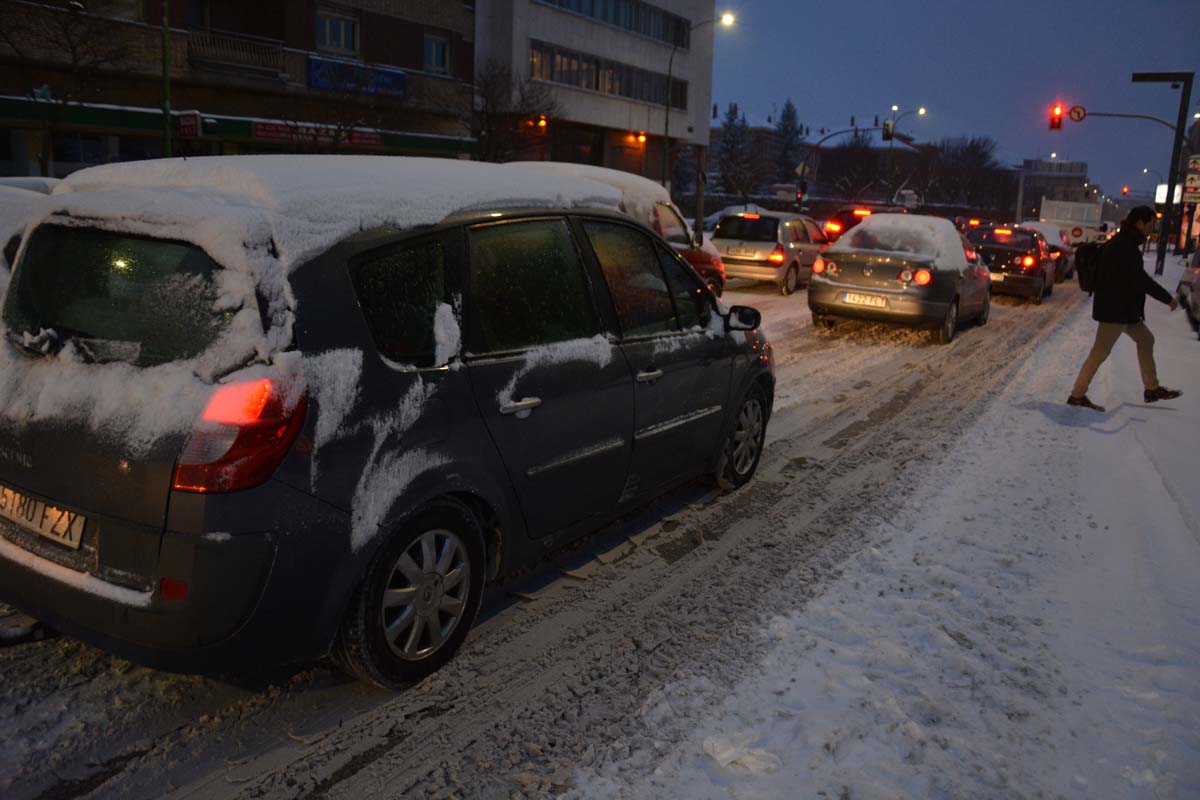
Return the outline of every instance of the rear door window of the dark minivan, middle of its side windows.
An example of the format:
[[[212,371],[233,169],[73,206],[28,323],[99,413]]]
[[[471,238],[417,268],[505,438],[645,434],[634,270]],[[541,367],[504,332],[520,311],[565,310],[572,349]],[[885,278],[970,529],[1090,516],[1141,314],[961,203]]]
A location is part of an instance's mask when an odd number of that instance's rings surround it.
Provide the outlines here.
[[[598,331],[583,261],[566,221],[529,219],[468,230],[473,353],[520,350]]]

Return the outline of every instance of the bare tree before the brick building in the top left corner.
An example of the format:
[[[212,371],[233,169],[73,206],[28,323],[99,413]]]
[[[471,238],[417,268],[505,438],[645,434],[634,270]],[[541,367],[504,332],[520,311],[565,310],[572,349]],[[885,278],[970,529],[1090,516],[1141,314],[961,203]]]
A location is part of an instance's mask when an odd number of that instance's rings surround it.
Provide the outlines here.
[[[130,61],[130,43],[113,19],[128,13],[121,0],[83,2],[0,2],[0,48],[24,74],[42,110],[37,161],[43,175],[53,163],[54,133],[62,110],[97,101],[113,71]]]

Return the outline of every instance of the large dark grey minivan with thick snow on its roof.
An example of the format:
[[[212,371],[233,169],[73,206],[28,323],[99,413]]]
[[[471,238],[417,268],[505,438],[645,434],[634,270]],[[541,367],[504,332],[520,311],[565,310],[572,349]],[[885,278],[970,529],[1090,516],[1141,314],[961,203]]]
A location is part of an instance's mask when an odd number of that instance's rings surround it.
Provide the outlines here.
[[[403,686],[486,581],[757,467],[758,313],[612,187],[242,156],[48,199],[2,308],[0,601],[119,655]]]

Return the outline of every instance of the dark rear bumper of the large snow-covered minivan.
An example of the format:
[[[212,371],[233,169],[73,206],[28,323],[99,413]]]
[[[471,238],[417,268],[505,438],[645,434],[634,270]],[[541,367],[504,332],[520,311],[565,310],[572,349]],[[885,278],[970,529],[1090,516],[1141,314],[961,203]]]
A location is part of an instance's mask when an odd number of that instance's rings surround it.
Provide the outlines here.
[[[318,511],[289,499],[283,517]],[[349,539],[295,533],[164,533],[158,578],[185,582],[182,600],[164,597],[157,579],[151,591],[126,589],[0,539],[0,601],[67,636],[172,672],[305,661],[324,655],[336,632],[319,620],[338,616],[325,608],[337,594],[328,587],[346,563]]]

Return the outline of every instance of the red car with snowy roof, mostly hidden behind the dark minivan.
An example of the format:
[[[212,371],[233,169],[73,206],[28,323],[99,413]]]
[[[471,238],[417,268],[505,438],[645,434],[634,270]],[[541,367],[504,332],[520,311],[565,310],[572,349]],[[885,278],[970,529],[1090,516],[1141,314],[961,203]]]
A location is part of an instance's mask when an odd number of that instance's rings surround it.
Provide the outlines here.
[[[622,210],[659,234],[684,260],[704,278],[718,297],[725,291],[725,264],[712,242],[694,230],[684,219],[671,194],[660,184],[632,173],[590,164],[570,164],[557,161],[516,161],[512,167],[533,169],[554,175],[566,175],[599,181],[622,193]]]

